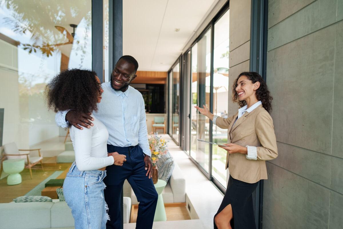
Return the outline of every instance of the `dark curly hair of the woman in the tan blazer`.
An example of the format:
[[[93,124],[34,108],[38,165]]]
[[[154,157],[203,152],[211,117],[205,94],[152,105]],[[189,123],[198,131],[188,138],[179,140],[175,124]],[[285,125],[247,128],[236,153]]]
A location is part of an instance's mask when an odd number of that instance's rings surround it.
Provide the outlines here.
[[[232,85],[232,101],[234,103],[238,103],[240,107],[243,107],[247,104],[245,100],[240,101],[238,98],[238,94],[236,91],[237,82],[239,77],[246,76],[249,80],[251,80],[252,83],[260,82],[260,87],[256,90],[256,97],[258,100],[262,102],[263,108],[268,111],[268,113],[272,112],[272,100],[273,97],[270,95],[270,92],[268,90],[267,84],[263,80],[263,78],[260,76],[257,72],[242,72],[239,74],[237,79],[235,80],[234,84]]]

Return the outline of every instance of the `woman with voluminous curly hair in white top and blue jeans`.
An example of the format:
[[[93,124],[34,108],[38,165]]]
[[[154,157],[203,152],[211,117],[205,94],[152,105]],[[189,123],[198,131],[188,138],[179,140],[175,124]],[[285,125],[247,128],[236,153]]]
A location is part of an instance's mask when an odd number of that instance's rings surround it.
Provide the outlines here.
[[[60,72],[46,85],[45,95],[49,109],[55,112],[74,110],[80,113],[97,111],[103,89],[94,71],[71,69]],[[75,228],[106,228],[107,205],[104,200],[106,166],[121,166],[126,161],[122,154],[107,153],[108,131],[92,114],[93,126],[70,128],[75,151],[63,183],[63,193],[75,220]]]

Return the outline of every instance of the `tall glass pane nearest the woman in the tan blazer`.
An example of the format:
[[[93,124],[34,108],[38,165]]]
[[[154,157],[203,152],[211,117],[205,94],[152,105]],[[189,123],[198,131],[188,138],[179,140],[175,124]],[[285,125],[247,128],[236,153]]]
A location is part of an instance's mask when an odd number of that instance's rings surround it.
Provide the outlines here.
[[[227,118],[229,93],[229,11],[214,24],[213,113]],[[227,143],[227,129],[213,125],[213,141]],[[212,176],[226,186],[226,150],[212,147]]]

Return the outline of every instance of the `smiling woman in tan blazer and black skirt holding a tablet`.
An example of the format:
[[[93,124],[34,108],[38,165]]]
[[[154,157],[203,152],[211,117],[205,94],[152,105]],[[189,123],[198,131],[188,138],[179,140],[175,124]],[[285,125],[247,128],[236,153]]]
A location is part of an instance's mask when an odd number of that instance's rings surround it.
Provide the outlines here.
[[[233,101],[240,106],[229,118],[213,115],[206,106],[199,112],[220,128],[228,129],[225,168],[229,169],[228,186],[214,228],[253,229],[255,217],[252,193],[261,179],[267,179],[266,160],[277,157],[272,110],[272,96],[257,72],[242,72],[233,85]]]

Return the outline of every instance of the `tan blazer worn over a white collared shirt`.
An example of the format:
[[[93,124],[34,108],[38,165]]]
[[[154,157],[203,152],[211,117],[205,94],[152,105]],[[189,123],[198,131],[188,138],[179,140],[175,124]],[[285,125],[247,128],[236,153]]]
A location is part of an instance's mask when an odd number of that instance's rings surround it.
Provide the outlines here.
[[[237,180],[256,183],[268,179],[265,161],[277,157],[273,119],[262,105],[236,120],[238,113],[229,118],[217,117],[216,125],[228,129],[228,143],[239,146],[256,146],[257,160],[246,159],[242,153],[227,153],[225,169]],[[234,124],[234,125],[233,125]]]

